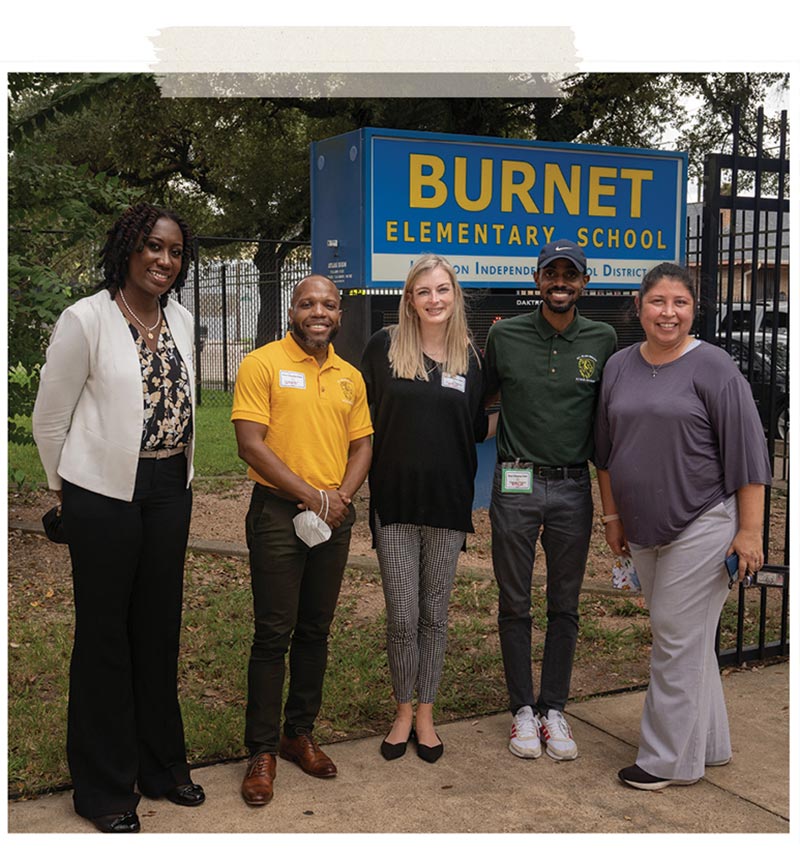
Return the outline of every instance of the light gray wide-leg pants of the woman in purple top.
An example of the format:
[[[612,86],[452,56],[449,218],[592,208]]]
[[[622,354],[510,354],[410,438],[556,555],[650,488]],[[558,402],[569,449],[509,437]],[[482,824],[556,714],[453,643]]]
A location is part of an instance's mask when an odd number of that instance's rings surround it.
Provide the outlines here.
[[[667,545],[630,545],[653,632],[636,763],[656,777],[695,780],[731,755],[714,640],[737,528],[731,495]]]

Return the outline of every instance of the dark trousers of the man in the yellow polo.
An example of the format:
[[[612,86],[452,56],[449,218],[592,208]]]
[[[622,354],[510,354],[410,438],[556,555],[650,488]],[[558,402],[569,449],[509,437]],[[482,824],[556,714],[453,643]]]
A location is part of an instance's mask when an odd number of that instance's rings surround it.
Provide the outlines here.
[[[333,621],[350,548],[355,510],[327,542],[309,548],[292,519],[295,501],[256,483],[247,513],[255,633],[247,672],[245,744],[253,754],[278,751],[281,699],[289,651],[288,736],[310,733],[322,705]]]

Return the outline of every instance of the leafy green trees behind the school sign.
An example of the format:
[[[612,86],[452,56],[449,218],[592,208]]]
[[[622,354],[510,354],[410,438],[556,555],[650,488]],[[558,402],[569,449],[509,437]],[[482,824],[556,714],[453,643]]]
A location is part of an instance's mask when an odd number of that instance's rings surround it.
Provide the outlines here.
[[[707,152],[730,146],[736,104],[752,146],[757,107],[788,75],[576,74],[560,85],[563,97],[533,99],[162,98],[151,75],[9,75],[10,366],[35,374],[48,326],[83,282],[64,254],[134,199],[177,209],[198,233],[274,240],[255,256],[265,314],[291,242],[309,237],[313,140],[373,126],[658,148],[674,129],[671,148],[688,149],[696,178]],[[9,413],[27,413],[13,409],[30,398],[15,395]]]

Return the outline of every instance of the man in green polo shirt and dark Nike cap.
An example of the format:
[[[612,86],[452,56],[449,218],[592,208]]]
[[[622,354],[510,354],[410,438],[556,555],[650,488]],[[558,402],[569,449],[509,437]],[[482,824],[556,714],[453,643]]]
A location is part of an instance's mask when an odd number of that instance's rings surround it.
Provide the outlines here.
[[[560,240],[539,254],[532,313],[493,325],[486,342],[489,397],[500,395],[492,486],[492,563],[500,588],[498,625],[509,708],[509,750],[574,760],[578,749],[563,711],[578,599],[592,530],[587,460],[600,378],[617,336],[575,304],[589,282],[586,256]],[[531,675],[531,576],[541,533],[547,561],[547,632],[539,695]]]

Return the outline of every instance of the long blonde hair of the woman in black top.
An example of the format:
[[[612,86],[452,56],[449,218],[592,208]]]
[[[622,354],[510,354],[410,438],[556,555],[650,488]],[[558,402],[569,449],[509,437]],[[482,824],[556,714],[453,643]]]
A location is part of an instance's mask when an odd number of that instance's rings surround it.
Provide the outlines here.
[[[411,300],[414,283],[421,274],[443,268],[453,285],[453,314],[447,320],[444,340],[442,371],[450,375],[465,375],[469,367],[469,349],[480,363],[480,357],[472,344],[464,309],[464,292],[458,282],[453,266],[443,257],[425,253],[411,266],[406,277],[403,295],[400,298],[399,322],[389,327],[389,365],[394,378],[428,380],[425,357],[422,352],[422,337],[419,316]]]

